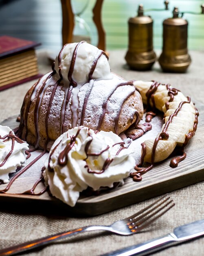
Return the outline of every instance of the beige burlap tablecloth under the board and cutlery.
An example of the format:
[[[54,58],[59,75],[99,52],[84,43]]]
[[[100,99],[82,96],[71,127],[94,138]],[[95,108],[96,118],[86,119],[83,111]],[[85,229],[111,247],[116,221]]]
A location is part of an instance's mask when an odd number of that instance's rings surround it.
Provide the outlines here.
[[[152,71],[130,71],[125,65],[124,55],[124,51],[110,52],[109,62],[112,72],[123,76],[125,79],[154,79],[162,83],[171,83],[175,88],[182,90],[186,96],[189,95],[204,103],[204,52],[191,52],[193,61],[186,74],[164,74],[158,63],[154,65]],[[44,74],[50,70],[50,66],[46,63],[46,57],[42,52],[39,56],[39,70]],[[20,113],[24,95],[34,82],[31,81],[0,92],[0,121]],[[204,218],[204,182],[178,189],[169,195],[174,200],[175,207],[154,222],[145,232],[126,237],[107,234],[103,231],[92,231],[59,240],[53,245],[21,255],[101,255],[165,235],[173,231],[173,228],[178,225]],[[152,198],[101,216],[89,218],[70,217],[60,212],[59,214],[42,212],[41,209],[36,209],[35,213],[29,210],[13,209],[12,206],[8,209],[0,203],[0,249],[60,231],[94,224],[108,225],[132,215],[155,200],[156,198]],[[170,247],[154,255],[202,256],[204,255],[204,238]]]

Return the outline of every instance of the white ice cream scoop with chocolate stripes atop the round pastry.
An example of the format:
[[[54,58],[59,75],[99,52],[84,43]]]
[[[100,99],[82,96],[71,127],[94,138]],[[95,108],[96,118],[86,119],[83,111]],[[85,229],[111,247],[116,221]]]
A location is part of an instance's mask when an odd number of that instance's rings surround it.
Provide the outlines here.
[[[58,57],[55,60],[55,70],[59,74],[61,68],[61,75],[64,81],[68,81],[68,72],[72,60],[72,54],[78,43],[70,43],[65,45],[61,50],[61,64],[59,65]],[[77,84],[85,84],[88,82],[88,75],[91,70],[94,58],[101,54],[101,50],[89,43],[81,43],[77,50],[76,61],[72,74],[72,79]],[[104,54],[102,54],[97,62],[97,66],[93,73],[94,80],[108,80],[112,79],[113,75],[110,72],[110,65]]]

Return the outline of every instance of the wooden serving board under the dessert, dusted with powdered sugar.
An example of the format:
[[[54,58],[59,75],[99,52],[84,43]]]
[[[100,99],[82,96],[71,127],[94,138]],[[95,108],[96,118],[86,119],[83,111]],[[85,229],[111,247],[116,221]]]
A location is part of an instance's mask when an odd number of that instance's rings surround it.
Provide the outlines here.
[[[186,159],[180,162],[177,168],[171,168],[169,166],[171,158],[166,159],[143,175],[141,182],[133,182],[131,178],[127,178],[123,186],[103,192],[100,195],[88,196],[82,194],[75,207],[69,207],[60,200],[50,196],[48,192],[42,195],[20,194],[31,189],[39,179],[44,160],[47,156],[46,153],[46,155],[39,159],[29,170],[15,180],[9,192],[0,193],[0,202],[13,205],[13,209],[15,209],[17,205],[19,206],[19,204],[26,207],[37,206],[38,209],[57,207],[57,209],[61,208],[69,214],[94,216],[200,182],[204,180],[204,104],[195,102],[195,105],[200,113],[197,131],[193,139],[189,142],[189,145],[186,146]],[[10,117],[1,124],[15,128],[19,125],[15,120],[16,117]],[[133,155],[137,163],[140,160],[140,144],[145,141],[145,139],[156,137],[162,126],[162,117],[155,117],[151,124],[153,127],[152,130],[133,141],[129,146],[134,152]],[[31,153],[31,157],[27,160],[26,164],[29,164],[29,162],[41,152],[42,151],[38,150]],[[4,189],[5,187],[6,184],[0,185],[0,189]],[[40,183],[35,192],[37,193],[43,188],[44,184]]]

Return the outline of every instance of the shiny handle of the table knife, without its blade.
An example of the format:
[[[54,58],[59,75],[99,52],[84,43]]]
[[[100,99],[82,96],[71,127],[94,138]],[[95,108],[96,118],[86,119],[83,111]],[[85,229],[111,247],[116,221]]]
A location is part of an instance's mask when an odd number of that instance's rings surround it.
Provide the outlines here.
[[[147,242],[133,245],[103,256],[132,256],[132,255],[146,255],[152,252],[156,252],[164,247],[168,247],[170,243],[178,241],[178,238],[173,234],[167,234],[158,238],[151,239]]]

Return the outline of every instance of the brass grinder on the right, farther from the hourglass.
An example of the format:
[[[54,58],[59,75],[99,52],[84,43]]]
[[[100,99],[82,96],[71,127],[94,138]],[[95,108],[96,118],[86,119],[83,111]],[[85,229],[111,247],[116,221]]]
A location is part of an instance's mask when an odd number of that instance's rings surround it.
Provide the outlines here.
[[[163,21],[163,49],[159,63],[165,72],[185,72],[191,63],[187,49],[188,22],[179,17],[177,7],[173,18]]]

